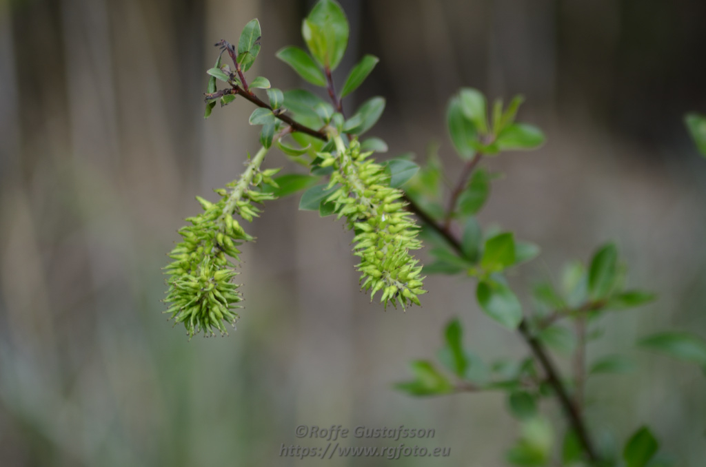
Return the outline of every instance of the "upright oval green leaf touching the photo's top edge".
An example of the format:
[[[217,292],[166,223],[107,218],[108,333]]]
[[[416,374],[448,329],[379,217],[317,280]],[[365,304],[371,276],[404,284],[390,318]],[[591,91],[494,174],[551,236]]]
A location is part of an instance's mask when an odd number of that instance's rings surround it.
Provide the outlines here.
[[[301,25],[301,35],[316,61],[335,70],[348,46],[348,20],[335,0],[319,0]]]

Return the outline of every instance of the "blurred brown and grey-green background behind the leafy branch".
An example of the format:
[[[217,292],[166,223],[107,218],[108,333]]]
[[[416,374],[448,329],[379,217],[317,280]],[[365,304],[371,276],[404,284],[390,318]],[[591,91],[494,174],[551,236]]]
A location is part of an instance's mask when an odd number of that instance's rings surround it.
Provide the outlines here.
[[[505,465],[518,430],[501,394],[410,399],[391,386],[408,377],[409,360],[436,353],[456,316],[486,360],[522,356],[524,344],[480,313],[473,285],[457,277],[429,277],[424,307],[407,313],[369,304],[351,234],[297,212],[297,197],[270,203],[250,226],[258,242],[244,250],[237,332],[189,342],[161,314],[160,267],[182,219],[200,210],[193,196],[213,195],[258,149],[246,102],[203,119],[213,44],[237,42],[258,17],[251,75],[304,86],[274,54],[303,45],[311,4],[0,1],[3,466],[309,465],[279,455],[282,444],[323,446],[297,439],[301,424],[431,427],[436,436],[419,445],[451,448],[438,464]],[[445,133],[450,95],[472,86],[527,97],[520,119],[548,141],[487,163],[505,177],[481,219],[542,246],[517,284],[556,280],[566,260],[587,260],[606,240],[620,245],[630,284],[660,298],[611,315],[590,346],[589,358],[626,353],[637,371],[590,380],[587,417],[616,444],[648,423],[679,465],[701,465],[705,378],[634,343],[664,328],[706,336],[706,163],[683,128],[686,111],[706,110],[706,3],[342,4],[352,37],[338,82],[361,54],[381,59],[345,107],[387,97],[371,131],[390,145],[382,157],[413,151],[423,161],[437,145],[453,176],[461,163]],[[266,164],[294,169],[276,152]],[[545,408],[561,427],[556,406]]]

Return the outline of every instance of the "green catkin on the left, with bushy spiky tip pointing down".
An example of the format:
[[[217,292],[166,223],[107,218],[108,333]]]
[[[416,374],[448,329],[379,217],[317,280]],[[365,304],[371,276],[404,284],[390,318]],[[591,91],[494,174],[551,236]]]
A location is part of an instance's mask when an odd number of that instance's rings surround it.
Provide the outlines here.
[[[164,313],[169,313],[174,325],[184,323],[189,339],[202,331],[212,336],[227,334],[225,325],[235,329],[239,315],[234,310],[242,308],[243,298],[239,284],[232,282],[238,274],[234,263],[240,261],[238,247],[253,237],[233,216],[252,222],[261,212],[252,203],[275,198],[261,190],[263,182],[276,186],[271,177],[278,169],[260,171],[266,153],[261,148],[237,181],[215,190],[221,197],[218,202],[196,197],[203,212],[186,219],[191,225],[179,229],[181,242],[169,253],[174,261],[164,267],[164,274],[169,275],[164,299],[169,308]]]

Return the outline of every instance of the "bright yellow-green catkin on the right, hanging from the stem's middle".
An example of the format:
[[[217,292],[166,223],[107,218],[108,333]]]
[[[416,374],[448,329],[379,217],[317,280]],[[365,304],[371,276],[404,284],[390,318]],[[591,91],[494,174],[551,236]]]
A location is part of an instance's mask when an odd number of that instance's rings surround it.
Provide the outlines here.
[[[335,154],[319,153],[322,166],[333,166],[328,188],[338,188],[326,202],[335,204],[337,219],[347,218],[355,233],[353,254],[360,257],[361,290],[371,291],[371,301],[380,291],[381,303],[405,308],[419,305],[422,289],[419,260],[409,250],[421,248],[419,228],[401,201],[402,191],[390,187],[385,169],[368,159],[372,152],[361,152],[357,140],[346,147],[340,135],[335,137]]]

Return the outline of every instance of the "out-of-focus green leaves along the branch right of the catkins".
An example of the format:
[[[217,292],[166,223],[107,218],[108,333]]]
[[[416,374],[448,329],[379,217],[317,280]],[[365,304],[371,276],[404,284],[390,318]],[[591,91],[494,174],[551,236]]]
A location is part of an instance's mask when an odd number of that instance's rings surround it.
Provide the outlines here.
[[[626,288],[626,267],[619,261],[616,245],[598,248],[588,265],[570,262],[561,287],[546,281],[537,284],[530,294],[532,307],[523,311],[522,302],[505,279],[508,269],[531,260],[539,253],[532,243],[517,241],[515,234],[501,229],[481,229],[477,213],[484,206],[491,183],[498,178],[477,166],[482,157],[493,157],[504,150],[531,150],[542,145],[542,132],[534,126],[515,122],[522,102],[515,97],[507,109],[496,101],[487,109],[481,92],[463,89],[450,100],[447,111],[451,142],[465,168],[459,183],[445,196],[446,175],[436,154],[405,185],[409,198],[436,223],[436,228],[423,231],[430,253],[436,261],[424,267],[427,274],[463,274],[477,280],[476,298],[481,310],[507,329],[520,329],[526,339],[560,356],[583,352],[586,342],[602,335],[599,318],[611,311],[626,310],[654,300],[652,293]],[[448,202],[444,202],[448,198]],[[454,223],[462,234],[450,241]],[[448,233],[448,235],[443,235]],[[453,236],[451,236],[453,237]],[[566,322],[574,322],[567,327]],[[508,409],[520,422],[520,438],[508,450],[507,460],[517,466],[547,466],[555,459],[557,449],[554,428],[539,411],[540,402],[556,397],[537,356],[519,361],[498,360],[486,363],[463,345],[462,325],[454,320],[446,327],[445,345],[438,353],[437,365],[431,360],[415,360],[411,364],[413,378],[396,385],[412,396],[440,396],[457,392],[503,391]],[[645,339],[645,346],[661,346],[672,355],[702,361],[698,339],[680,333],[666,333]],[[580,354],[582,355],[582,353]],[[602,373],[624,372],[633,368],[623,356],[609,355],[587,365],[581,380],[569,381],[570,388],[584,379]],[[561,382],[559,383],[561,384]],[[582,401],[571,404],[580,406]],[[586,447],[569,427],[558,449],[562,465],[585,465],[590,461]],[[626,442],[622,460],[626,466],[671,465],[655,456],[657,441],[647,427],[635,432]],[[620,453],[602,447],[601,465],[616,466]]]

